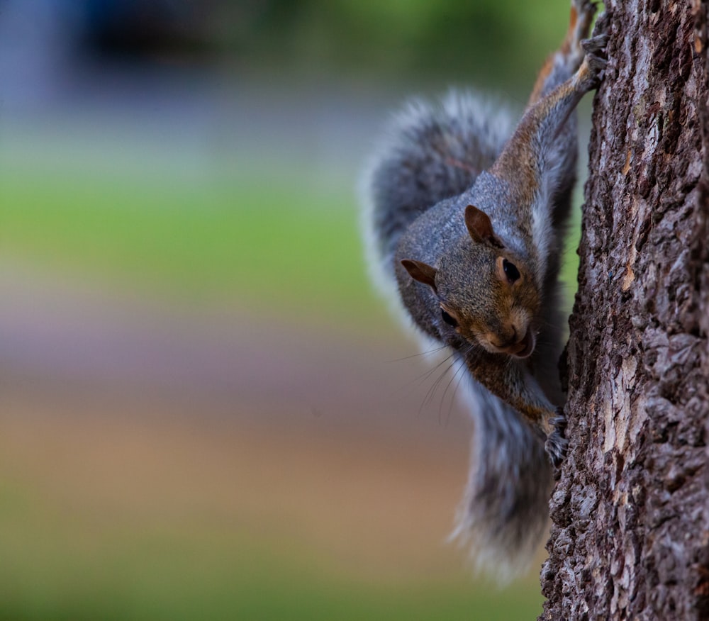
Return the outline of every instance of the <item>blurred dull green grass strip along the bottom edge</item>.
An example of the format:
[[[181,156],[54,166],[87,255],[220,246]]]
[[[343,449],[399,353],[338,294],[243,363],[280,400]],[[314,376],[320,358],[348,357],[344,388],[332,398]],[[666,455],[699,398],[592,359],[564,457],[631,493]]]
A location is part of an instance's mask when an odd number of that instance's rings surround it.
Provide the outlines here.
[[[204,524],[121,524],[57,508],[26,484],[0,488],[2,620],[426,620],[533,618],[529,580],[501,593],[328,574],[306,549]],[[330,568],[331,569],[331,568]],[[327,577],[327,576],[331,577]]]

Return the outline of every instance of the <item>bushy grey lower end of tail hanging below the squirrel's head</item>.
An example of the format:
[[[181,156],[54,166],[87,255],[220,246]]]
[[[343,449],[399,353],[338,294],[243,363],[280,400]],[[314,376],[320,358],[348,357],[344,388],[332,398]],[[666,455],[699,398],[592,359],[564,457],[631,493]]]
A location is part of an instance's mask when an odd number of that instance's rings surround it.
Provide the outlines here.
[[[548,528],[553,472],[544,443],[520,415],[469,383],[471,464],[450,539],[479,571],[508,582],[523,574]]]

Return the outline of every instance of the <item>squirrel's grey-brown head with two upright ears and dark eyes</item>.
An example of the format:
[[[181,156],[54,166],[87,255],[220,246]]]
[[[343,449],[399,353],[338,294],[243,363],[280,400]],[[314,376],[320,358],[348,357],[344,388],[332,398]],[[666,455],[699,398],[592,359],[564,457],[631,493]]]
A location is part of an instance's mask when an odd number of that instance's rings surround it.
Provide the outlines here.
[[[433,320],[444,340],[463,337],[488,352],[525,358],[535,347],[540,308],[534,275],[497,237],[484,211],[467,206],[465,224],[469,235],[452,243],[437,267],[414,259],[401,264],[435,294]]]

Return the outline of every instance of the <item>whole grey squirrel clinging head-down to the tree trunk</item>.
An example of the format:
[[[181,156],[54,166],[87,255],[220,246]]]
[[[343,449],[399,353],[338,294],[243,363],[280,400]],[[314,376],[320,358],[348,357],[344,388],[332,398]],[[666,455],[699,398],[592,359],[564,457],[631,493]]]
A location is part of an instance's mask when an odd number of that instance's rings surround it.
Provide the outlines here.
[[[469,481],[452,537],[479,569],[523,573],[566,449],[558,273],[576,182],[576,104],[601,82],[605,20],[571,1],[562,46],[511,132],[453,92],[409,104],[364,177],[374,279],[469,372]]]

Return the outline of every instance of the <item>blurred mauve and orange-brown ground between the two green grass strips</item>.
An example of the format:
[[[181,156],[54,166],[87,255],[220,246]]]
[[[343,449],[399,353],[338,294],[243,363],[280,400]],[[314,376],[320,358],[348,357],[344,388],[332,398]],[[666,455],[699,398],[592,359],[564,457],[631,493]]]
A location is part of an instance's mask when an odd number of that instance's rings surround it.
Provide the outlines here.
[[[471,428],[391,325],[292,325],[5,269],[0,472],[82,528],[216,529],[337,571],[465,573]]]

